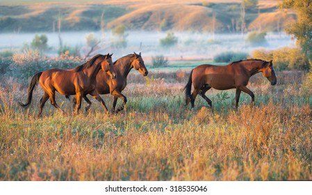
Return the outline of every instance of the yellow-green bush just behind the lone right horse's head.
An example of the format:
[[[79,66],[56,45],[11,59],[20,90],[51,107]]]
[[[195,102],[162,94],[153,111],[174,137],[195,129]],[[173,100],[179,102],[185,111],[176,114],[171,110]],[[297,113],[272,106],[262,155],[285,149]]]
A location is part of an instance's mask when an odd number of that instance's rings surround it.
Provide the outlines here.
[[[309,70],[309,60],[299,48],[282,47],[268,51],[257,49],[252,52],[252,57],[265,61],[273,61],[277,70]]]

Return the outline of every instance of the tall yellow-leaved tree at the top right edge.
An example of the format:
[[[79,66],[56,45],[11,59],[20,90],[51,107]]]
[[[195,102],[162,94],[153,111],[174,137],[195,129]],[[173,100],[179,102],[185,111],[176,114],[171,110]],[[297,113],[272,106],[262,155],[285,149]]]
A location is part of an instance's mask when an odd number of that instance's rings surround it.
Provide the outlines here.
[[[297,21],[286,26],[286,32],[297,38],[302,52],[312,61],[312,0],[283,0],[281,8],[291,8],[297,13]]]

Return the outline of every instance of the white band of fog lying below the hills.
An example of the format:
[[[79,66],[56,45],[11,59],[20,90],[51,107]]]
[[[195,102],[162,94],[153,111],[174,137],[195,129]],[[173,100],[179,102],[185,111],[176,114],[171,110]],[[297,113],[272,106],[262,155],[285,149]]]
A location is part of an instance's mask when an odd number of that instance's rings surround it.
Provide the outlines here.
[[[64,32],[60,36],[63,45],[81,47],[81,55],[88,52],[85,36],[91,32]],[[279,47],[294,47],[295,40],[285,33],[268,33],[265,36],[266,42],[256,46],[245,42],[247,34],[212,34],[212,33],[186,33],[175,32],[174,36],[178,42],[173,47],[164,48],[160,45],[161,38],[166,37],[165,32],[150,31],[127,31],[126,47],[111,47],[115,36],[109,31],[104,35],[101,32],[94,32],[97,39],[101,40],[99,49],[95,53],[114,53],[119,58],[131,52],[142,52],[143,56],[164,55],[170,59],[213,59],[213,56],[222,52],[247,52],[254,49],[277,49]],[[38,33],[43,34],[43,33]],[[49,56],[56,56],[59,47],[58,33],[44,33],[48,38]],[[23,45],[30,44],[35,33],[1,33],[0,49],[21,49]]]

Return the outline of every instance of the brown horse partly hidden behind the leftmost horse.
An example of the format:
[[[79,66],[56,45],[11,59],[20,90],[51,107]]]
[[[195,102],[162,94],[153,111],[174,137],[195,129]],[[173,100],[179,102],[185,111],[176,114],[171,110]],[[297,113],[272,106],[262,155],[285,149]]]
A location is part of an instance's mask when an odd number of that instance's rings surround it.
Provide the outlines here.
[[[118,112],[124,109],[124,106],[127,102],[126,96],[122,94],[122,91],[126,87],[126,77],[129,75],[129,72],[132,70],[132,68],[138,70],[144,77],[146,77],[149,72],[145,67],[141,52],[140,54],[136,54],[136,52],[133,52],[133,54],[129,54],[123,56],[120,59],[117,59],[117,61],[114,62],[114,67],[117,72],[115,79],[110,79],[108,74],[106,74],[106,72],[104,71],[100,71],[99,74],[97,74],[97,91],[99,92],[99,94],[110,93],[114,96],[112,108],[113,112],[115,112],[117,100],[118,98],[120,98],[123,103],[120,109],[117,109],[116,112]],[[67,98],[69,97],[67,96]],[[87,107],[85,107],[85,111],[88,111],[92,103],[87,98],[86,94],[83,95],[83,99],[85,100],[85,102],[88,103]],[[76,103],[75,99],[73,100],[73,103]]]

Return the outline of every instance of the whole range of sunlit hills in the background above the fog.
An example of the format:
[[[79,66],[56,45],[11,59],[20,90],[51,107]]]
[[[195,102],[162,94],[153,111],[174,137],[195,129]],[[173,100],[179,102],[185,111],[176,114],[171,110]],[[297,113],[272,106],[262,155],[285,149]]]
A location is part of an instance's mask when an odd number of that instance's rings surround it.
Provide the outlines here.
[[[240,31],[240,1],[112,0],[76,3],[45,0],[0,3],[0,32],[96,31],[104,13],[105,29],[123,24],[128,30]],[[278,12],[277,1],[259,1],[246,10],[249,30],[280,31],[295,15]]]

